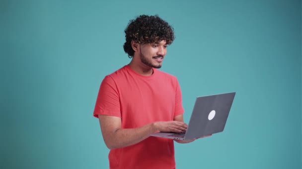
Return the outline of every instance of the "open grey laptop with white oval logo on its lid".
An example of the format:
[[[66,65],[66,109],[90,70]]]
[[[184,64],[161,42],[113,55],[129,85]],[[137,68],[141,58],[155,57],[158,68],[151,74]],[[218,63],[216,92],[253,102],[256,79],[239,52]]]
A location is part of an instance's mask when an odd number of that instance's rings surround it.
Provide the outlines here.
[[[235,93],[197,97],[186,132],[157,132],[151,136],[188,140],[222,132],[226,126]]]

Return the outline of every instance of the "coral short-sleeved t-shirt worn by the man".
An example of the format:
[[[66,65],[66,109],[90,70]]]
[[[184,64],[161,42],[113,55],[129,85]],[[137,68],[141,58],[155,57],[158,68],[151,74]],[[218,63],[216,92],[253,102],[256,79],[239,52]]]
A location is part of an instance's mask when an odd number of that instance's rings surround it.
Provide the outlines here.
[[[99,88],[94,117],[121,118],[122,128],[141,127],[156,121],[172,121],[183,114],[181,90],[175,76],[153,69],[151,76],[129,65],[107,75]],[[173,139],[148,137],[110,150],[110,169],[175,169]]]

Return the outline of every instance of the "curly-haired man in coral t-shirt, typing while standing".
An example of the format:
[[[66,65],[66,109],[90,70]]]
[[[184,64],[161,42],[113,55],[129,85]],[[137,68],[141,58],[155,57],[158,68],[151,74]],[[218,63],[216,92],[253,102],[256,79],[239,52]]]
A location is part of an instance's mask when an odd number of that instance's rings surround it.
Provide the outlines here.
[[[187,129],[178,81],[158,70],[173,29],[157,15],[141,15],[125,33],[132,60],[103,79],[93,113],[110,149],[110,169],[175,169],[173,140],[150,136]]]

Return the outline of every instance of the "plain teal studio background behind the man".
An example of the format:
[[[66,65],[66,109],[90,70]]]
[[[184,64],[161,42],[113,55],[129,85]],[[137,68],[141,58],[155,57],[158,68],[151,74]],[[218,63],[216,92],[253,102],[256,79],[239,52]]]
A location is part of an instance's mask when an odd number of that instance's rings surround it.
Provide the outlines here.
[[[301,0],[1,0],[0,168],[108,169],[92,117],[105,75],[128,64],[124,29],[175,30],[161,70],[195,98],[236,91],[225,131],[175,144],[177,169],[301,169]]]

